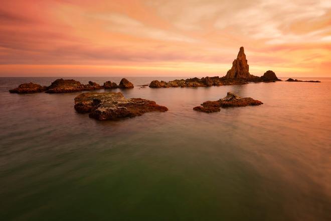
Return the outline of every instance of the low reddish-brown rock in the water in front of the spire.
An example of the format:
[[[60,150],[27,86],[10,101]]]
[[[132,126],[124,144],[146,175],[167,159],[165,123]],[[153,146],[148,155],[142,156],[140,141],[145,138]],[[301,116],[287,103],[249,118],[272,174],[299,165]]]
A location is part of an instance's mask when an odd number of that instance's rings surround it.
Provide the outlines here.
[[[219,112],[220,107],[230,106],[247,106],[247,105],[260,105],[263,104],[259,100],[254,100],[251,97],[240,97],[234,93],[228,92],[227,96],[216,101],[206,101],[201,106],[196,106],[193,109],[199,112]]]

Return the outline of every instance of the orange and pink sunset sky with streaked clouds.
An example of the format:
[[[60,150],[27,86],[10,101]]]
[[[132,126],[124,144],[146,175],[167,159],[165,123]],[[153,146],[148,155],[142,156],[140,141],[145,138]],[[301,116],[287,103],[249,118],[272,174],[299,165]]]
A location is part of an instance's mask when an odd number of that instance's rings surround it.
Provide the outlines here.
[[[0,0],[0,76],[331,77],[331,1]]]

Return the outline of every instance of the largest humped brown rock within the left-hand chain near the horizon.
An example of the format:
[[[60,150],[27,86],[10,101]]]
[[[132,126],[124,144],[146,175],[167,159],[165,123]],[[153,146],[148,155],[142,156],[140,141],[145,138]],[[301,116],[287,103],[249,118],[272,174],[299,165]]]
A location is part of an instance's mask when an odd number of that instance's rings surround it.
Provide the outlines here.
[[[60,78],[53,81],[52,84],[47,87],[46,93],[67,93],[101,88],[102,87],[99,84],[92,81],[89,81],[88,84],[81,84],[79,81],[73,79],[64,80],[63,78]]]

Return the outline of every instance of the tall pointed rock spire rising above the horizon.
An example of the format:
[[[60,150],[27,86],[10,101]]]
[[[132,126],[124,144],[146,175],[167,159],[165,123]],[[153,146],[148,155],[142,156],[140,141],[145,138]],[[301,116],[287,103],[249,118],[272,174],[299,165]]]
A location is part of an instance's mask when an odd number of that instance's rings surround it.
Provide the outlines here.
[[[232,62],[232,68],[225,75],[229,79],[249,78],[249,66],[247,64],[244,47],[240,47],[237,59]]]

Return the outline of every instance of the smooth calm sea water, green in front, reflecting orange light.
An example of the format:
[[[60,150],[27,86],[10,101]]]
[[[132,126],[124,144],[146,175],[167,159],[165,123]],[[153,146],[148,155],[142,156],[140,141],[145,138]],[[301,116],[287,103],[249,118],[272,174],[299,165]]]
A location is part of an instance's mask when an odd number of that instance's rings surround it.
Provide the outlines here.
[[[0,78],[2,220],[331,220],[331,78],[139,88],[176,78],[128,77],[134,89],[111,91],[169,111],[115,122],[77,114],[79,92],[8,92],[55,79]],[[264,104],[193,111],[228,91]]]

